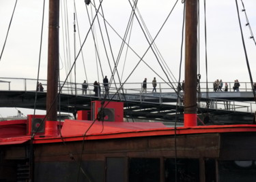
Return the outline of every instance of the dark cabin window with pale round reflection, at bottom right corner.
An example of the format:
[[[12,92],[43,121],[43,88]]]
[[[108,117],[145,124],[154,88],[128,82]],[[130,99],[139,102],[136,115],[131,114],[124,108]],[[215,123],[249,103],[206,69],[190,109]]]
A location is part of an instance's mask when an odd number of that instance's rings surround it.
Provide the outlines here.
[[[251,182],[256,179],[256,162],[246,161],[219,161],[219,181]]]

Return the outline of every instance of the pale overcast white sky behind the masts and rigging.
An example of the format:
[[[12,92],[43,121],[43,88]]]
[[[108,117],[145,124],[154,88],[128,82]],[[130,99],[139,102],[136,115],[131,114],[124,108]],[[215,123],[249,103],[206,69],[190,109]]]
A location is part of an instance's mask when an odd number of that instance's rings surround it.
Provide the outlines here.
[[[15,0],[0,1],[0,50],[3,49],[8,26],[14,10]],[[3,55],[0,60],[0,80],[3,77],[12,78],[29,78],[36,79],[38,75],[39,55],[40,55],[40,35],[42,25],[42,0],[23,0],[18,1],[8,39],[5,44]],[[169,12],[173,8],[176,1],[173,0],[140,0],[137,4],[139,12],[143,17],[150,35],[156,37],[163,22],[165,22]],[[256,1],[243,0],[246,14],[251,25],[253,34],[256,34]],[[99,2],[96,2],[98,8]],[[256,80],[256,47],[251,37],[248,26],[245,26],[246,20],[244,12],[242,12],[242,3],[238,0],[240,19],[242,22],[242,31],[244,33],[244,41],[246,52],[251,67],[253,79]],[[42,34],[42,55],[40,59],[39,78],[46,79],[47,77],[47,40],[48,40],[48,1],[45,4],[46,10],[44,14],[44,29]],[[162,60],[169,67],[169,79],[175,81],[179,79],[180,73],[180,49],[182,41],[182,20],[183,20],[182,1],[178,1],[175,5],[171,16],[167,19],[165,26],[154,41],[158,48]],[[126,26],[131,14],[131,5],[129,1],[104,0],[102,1],[102,9],[104,18],[115,29],[119,36],[124,37]],[[76,33],[73,31],[74,10],[76,10]],[[82,83],[87,80],[89,83],[94,81],[102,82],[104,75],[111,77],[111,70],[114,68],[113,60],[117,60],[122,39],[106,24],[108,34],[102,16],[98,16],[99,22],[96,19],[94,22],[94,36],[89,31],[90,21],[89,16],[95,16],[94,6],[86,6],[83,0],[79,1],[61,1],[60,11],[60,26],[59,26],[59,41],[60,41],[60,78],[61,81],[66,79],[70,67],[74,62],[81,43],[87,39],[83,45],[83,54],[79,54],[76,59],[76,71],[71,72],[68,81],[76,81]],[[102,11],[100,10],[102,13]],[[136,12],[139,17],[138,12]],[[199,54],[199,73],[201,74],[201,82],[206,81],[205,71],[205,39],[204,39],[204,12],[203,1],[200,1],[200,54]],[[244,48],[242,46],[242,38],[240,26],[238,24],[238,15],[236,10],[235,0],[208,0],[206,1],[206,27],[207,27],[207,60],[208,60],[208,81],[223,79],[223,81],[250,81],[246,58],[244,56]],[[140,20],[141,22],[141,20]],[[101,24],[101,29],[98,24]],[[68,30],[68,31],[66,31]],[[104,37],[104,43],[101,38],[101,33]],[[109,37],[108,37],[108,36]],[[145,39],[143,31],[139,26],[138,20],[134,17],[132,30],[126,39],[130,47],[137,55],[143,56],[149,43]],[[79,39],[80,37],[80,39]],[[96,43],[94,43],[96,39]],[[110,40],[110,43],[109,43]],[[75,43],[74,43],[75,42]],[[81,42],[81,43],[79,43]],[[95,48],[97,45],[97,51]],[[75,50],[75,51],[74,51]],[[157,81],[167,81],[167,76],[162,71],[158,64],[159,58],[156,58],[152,50],[148,50],[143,60],[147,63],[140,62],[134,69],[140,58],[124,46],[124,51],[117,65],[118,75],[115,74],[115,81],[120,79],[122,82],[127,79],[128,83],[142,82],[145,77],[149,80],[156,77]],[[97,55],[98,52],[98,56]],[[106,56],[105,52],[108,52]],[[98,59],[100,58],[100,63]],[[111,65],[111,68],[109,67]],[[124,70],[124,71],[123,71]],[[134,70],[134,71],[133,71]],[[154,71],[152,71],[154,70]],[[130,73],[133,71],[132,75]],[[157,74],[156,74],[157,73]],[[184,79],[184,56],[182,60],[181,80]],[[17,83],[23,84],[23,83]],[[31,84],[31,88],[34,85]],[[15,115],[16,109],[6,112],[6,109],[0,108],[0,114]],[[27,113],[27,110],[22,110]]]

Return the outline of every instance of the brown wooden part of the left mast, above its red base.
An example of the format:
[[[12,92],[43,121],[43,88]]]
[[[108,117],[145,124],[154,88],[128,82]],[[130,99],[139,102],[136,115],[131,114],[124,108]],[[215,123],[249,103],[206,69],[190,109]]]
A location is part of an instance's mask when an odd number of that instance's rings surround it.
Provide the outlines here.
[[[57,93],[59,77],[59,0],[49,1],[48,73],[46,120],[57,120]]]

